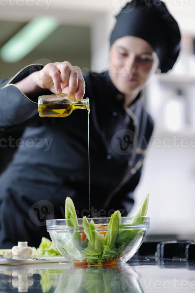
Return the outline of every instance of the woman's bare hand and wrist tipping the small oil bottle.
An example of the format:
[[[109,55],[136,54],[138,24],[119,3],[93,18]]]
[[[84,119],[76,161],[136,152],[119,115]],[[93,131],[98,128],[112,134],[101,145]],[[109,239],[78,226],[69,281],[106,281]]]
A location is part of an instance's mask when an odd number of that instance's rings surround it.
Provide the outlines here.
[[[33,72],[16,83],[16,86],[26,95],[49,89],[54,94],[68,93],[77,100],[82,100],[85,94],[81,69],[68,61],[48,63],[40,71]]]

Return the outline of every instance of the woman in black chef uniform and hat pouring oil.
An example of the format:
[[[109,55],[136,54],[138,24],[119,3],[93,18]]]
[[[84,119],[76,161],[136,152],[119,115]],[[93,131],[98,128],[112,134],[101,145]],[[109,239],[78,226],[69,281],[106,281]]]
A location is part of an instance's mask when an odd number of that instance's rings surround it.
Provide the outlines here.
[[[82,74],[68,61],[31,64],[1,80],[0,129],[25,129],[0,176],[0,248],[49,238],[45,220],[64,218],[66,196],[78,217],[88,215],[87,111],[41,118],[38,96],[89,97],[90,216],[114,210],[127,216],[153,131],[142,89],[152,74],[173,67],[179,49],[179,28],[165,4],[133,0],[116,16],[108,70]]]

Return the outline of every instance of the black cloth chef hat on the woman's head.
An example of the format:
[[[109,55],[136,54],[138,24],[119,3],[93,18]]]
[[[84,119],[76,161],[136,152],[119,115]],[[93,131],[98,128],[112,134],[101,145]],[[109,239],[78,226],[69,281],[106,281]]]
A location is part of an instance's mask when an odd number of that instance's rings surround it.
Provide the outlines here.
[[[180,50],[181,34],[173,16],[160,0],[132,0],[115,16],[110,46],[122,36],[137,36],[156,51],[161,72],[171,69]]]

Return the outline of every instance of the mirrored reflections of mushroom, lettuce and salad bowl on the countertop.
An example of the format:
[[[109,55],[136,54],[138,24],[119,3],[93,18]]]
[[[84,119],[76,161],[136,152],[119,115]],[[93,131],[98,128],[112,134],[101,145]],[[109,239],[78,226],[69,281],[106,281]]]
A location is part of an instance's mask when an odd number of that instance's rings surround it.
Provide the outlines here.
[[[143,292],[138,274],[123,266],[58,265],[58,269],[29,268],[28,265],[0,267],[1,292]],[[130,291],[129,291],[130,290]]]

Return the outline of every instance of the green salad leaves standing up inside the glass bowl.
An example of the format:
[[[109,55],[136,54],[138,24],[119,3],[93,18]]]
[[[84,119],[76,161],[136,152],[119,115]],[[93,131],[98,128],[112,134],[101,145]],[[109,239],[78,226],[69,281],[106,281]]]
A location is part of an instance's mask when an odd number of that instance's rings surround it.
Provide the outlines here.
[[[66,197],[65,221],[69,228],[69,238],[65,241],[61,239],[61,235],[56,235],[61,242],[61,248],[67,256],[80,262],[87,260],[89,263],[102,263],[105,260],[116,260],[135,236],[143,235],[143,230],[134,226],[145,222],[145,219],[140,217],[146,216],[148,200],[149,195],[141,202],[130,223],[122,223],[121,213],[116,210],[111,215],[109,224],[103,226],[106,232],[101,230],[100,225],[95,225],[93,219],[89,222],[84,216],[83,233],[80,233],[82,228],[78,224],[74,203]]]

